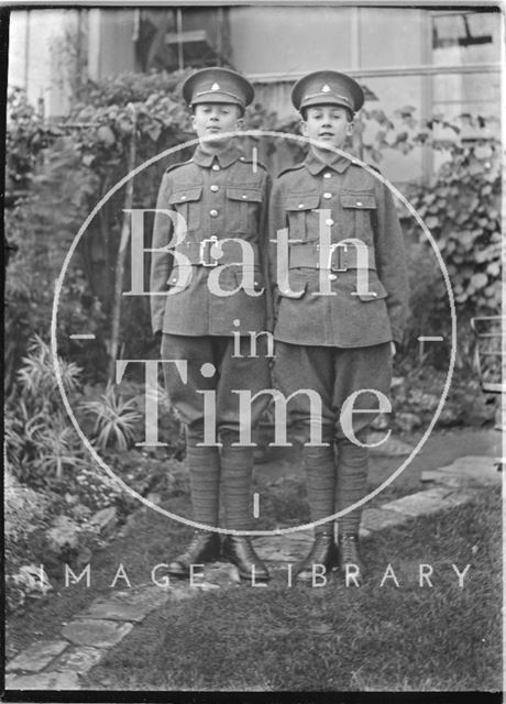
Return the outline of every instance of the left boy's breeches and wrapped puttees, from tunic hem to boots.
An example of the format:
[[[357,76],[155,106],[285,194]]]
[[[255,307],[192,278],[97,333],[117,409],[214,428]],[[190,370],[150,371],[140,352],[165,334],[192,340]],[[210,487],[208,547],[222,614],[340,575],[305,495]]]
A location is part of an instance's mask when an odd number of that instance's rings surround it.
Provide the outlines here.
[[[254,358],[248,356],[249,338],[240,339],[237,356],[234,344],[232,337],[164,334],[162,359],[182,362],[180,371],[168,362],[163,369],[170,403],[186,427],[194,518],[211,527],[219,525],[221,486],[227,528],[248,530],[252,514],[253,448],[233,447],[241,426],[240,397],[233,392],[248,391],[254,396],[270,387],[270,374],[264,338],[258,338]],[[208,394],[211,398],[208,407],[201,392],[213,392],[213,398]],[[251,403],[252,428],[267,403],[267,395]],[[221,451],[212,446],[198,447],[206,440],[206,428],[215,442],[221,442]]]

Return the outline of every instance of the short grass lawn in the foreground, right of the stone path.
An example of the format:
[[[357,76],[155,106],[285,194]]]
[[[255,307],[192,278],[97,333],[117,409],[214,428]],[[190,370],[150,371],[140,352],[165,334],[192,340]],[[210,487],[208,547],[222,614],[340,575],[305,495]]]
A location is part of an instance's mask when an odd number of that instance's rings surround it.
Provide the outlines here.
[[[124,546],[129,574],[143,569],[136,583],[164,558],[162,520],[152,514],[150,520],[131,538],[136,551]],[[185,531],[177,530],[170,554]],[[110,651],[84,686],[498,691],[501,546],[501,492],[486,490],[471,505],[364,543],[370,576],[362,587],[332,579],[317,588],[238,586],[169,602]],[[117,546],[116,564],[120,552]],[[431,587],[419,586],[420,563],[432,566]],[[452,563],[460,571],[471,565],[463,587]],[[380,586],[388,564],[399,586],[393,579]]]

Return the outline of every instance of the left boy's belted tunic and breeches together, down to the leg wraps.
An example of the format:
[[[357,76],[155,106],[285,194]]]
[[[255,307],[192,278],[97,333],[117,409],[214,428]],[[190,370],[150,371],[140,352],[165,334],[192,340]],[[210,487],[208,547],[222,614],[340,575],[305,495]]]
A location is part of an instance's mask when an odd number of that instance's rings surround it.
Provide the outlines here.
[[[186,237],[176,242],[173,221],[164,212],[156,213],[150,289],[152,327],[155,333],[163,332],[163,359],[186,362],[184,378],[174,364],[163,367],[170,402],[193,442],[204,439],[202,392],[216,391],[218,431],[237,435],[239,396],[233,392],[249,389],[255,394],[271,385],[265,337],[257,340],[256,356],[249,355],[250,338],[244,337],[272,327],[268,190],[265,168],[260,164],[253,167],[233,141],[220,151],[198,146],[191,160],[168,168],[162,180],[156,209],[179,213],[186,222]],[[254,280],[250,293],[240,288],[244,268],[240,245],[223,243],[218,257],[211,238],[233,238],[252,245]],[[177,249],[190,262],[189,279],[188,271],[182,271],[189,267],[175,264],[170,249]],[[230,295],[219,296],[209,285],[209,277],[220,265],[226,266],[219,287]],[[234,332],[243,337],[235,340]],[[238,344],[240,353],[235,354]],[[261,397],[252,404],[253,426],[267,402],[268,397]]]

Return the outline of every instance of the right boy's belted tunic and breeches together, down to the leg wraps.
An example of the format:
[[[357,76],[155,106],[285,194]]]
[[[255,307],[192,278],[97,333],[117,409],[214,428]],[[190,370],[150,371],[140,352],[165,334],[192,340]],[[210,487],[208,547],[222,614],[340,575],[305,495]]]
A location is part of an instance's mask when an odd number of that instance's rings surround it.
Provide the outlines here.
[[[332,244],[345,239],[365,243],[369,252],[367,294],[356,290],[353,248],[338,248],[323,272],[332,295],[320,290],[320,227],[330,228]],[[323,162],[310,151],[306,161],[283,172],[273,185],[270,230],[288,229],[289,286],[276,286],[276,362],[274,376],[285,395],[300,388],[317,391],[322,400],[324,441],[344,440],[339,418],[348,396],[375,389],[388,395],[392,377],[389,341],[399,342],[407,311],[407,275],[403,233],[387,187],[349,158]],[[277,280],[276,249],[272,276]],[[346,262],[348,260],[348,262]],[[296,296],[296,297],[292,297]],[[372,405],[374,404],[374,405]],[[355,408],[377,407],[371,394],[358,398]],[[292,402],[293,419],[308,439],[310,406],[305,395]],[[355,432],[373,416],[354,414]]]

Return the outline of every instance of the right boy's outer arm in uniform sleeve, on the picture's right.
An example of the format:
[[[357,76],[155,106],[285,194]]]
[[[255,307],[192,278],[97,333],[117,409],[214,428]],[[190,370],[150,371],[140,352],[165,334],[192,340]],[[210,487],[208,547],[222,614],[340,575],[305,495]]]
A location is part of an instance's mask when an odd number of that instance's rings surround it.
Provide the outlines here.
[[[408,277],[404,235],[391,190],[377,182],[380,190],[376,211],[376,267],[380,280],[388,293],[386,307],[394,341],[403,341],[408,314]]]

